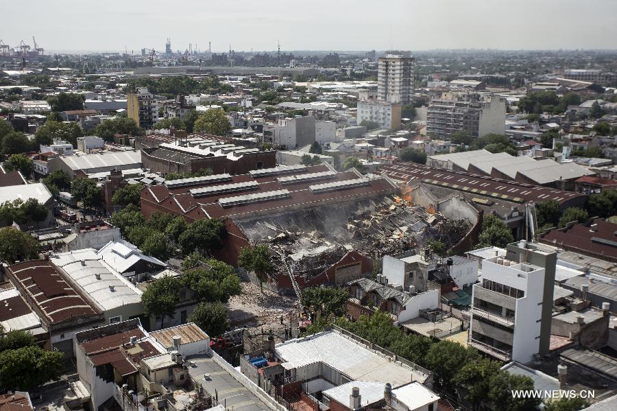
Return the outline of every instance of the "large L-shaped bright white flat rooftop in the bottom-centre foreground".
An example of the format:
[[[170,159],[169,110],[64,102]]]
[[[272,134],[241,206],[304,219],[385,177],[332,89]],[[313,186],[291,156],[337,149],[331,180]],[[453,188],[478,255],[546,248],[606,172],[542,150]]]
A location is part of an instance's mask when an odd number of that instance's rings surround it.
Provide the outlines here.
[[[424,382],[428,378],[424,372],[394,362],[391,357],[373,351],[338,331],[325,331],[282,342],[276,345],[275,352],[287,369],[323,362],[351,379],[390,383],[393,387],[411,381]]]

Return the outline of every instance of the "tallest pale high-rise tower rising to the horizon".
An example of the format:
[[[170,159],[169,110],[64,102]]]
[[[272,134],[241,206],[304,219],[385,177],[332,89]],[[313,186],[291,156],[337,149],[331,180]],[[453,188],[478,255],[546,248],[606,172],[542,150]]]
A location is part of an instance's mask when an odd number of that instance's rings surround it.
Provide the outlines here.
[[[377,97],[390,103],[409,104],[413,99],[415,58],[386,54],[378,60]]]

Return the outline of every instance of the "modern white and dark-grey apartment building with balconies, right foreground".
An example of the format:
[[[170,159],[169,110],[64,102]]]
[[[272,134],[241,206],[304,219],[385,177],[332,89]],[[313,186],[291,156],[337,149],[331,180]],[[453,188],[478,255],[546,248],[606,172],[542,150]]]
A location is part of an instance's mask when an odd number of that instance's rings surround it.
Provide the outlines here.
[[[503,361],[522,364],[547,354],[557,253],[521,240],[505,257],[482,261],[473,287],[469,344]]]

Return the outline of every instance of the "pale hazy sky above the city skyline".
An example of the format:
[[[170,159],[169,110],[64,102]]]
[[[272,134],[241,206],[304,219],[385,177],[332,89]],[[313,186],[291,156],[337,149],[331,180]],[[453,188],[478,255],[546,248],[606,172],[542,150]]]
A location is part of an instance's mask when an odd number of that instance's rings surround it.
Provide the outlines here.
[[[617,0],[0,0],[46,50],[617,49]]]

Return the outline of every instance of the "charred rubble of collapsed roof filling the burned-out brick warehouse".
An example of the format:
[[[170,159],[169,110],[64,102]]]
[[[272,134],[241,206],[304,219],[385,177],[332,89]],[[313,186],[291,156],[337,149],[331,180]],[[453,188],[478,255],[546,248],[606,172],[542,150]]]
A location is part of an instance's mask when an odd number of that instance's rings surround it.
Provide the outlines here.
[[[467,220],[448,220],[434,209],[398,196],[236,223],[252,244],[270,244],[280,274],[288,274],[288,266],[305,279],[323,272],[350,250],[380,259],[422,248],[428,239],[439,239],[449,248],[471,228]]]

